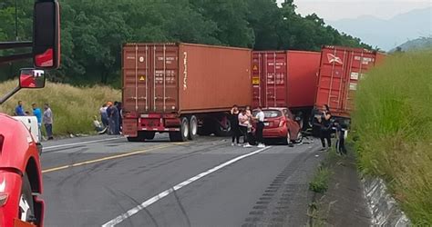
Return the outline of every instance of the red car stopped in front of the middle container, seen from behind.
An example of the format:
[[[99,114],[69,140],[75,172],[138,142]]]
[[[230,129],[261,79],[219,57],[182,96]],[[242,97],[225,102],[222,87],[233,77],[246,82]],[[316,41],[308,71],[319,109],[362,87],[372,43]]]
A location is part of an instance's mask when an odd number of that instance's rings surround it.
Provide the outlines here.
[[[294,115],[288,108],[269,107],[263,108],[264,113],[264,130],[262,136],[264,139],[282,139],[283,143],[300,143],[302,141],[302,129],[299,121],[296,121]],[[256,111],[253,111],[256,115]]]

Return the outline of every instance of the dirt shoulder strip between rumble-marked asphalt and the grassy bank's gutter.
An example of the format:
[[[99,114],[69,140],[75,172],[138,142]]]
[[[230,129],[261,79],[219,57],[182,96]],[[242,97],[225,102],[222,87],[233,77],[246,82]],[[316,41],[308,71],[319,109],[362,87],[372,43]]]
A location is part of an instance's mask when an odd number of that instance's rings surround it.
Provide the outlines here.
[[[328,190],[314,193],[309,226],[370,226],[371,214],[352,153],[340,157],[327,153]],[[334,157],[331,157],[334,156]]]

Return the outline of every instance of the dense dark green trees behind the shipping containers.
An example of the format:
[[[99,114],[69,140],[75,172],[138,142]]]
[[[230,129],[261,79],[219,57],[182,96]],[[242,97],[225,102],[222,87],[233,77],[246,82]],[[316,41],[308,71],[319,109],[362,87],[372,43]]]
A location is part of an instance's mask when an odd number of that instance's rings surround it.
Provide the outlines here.
[[[18,36],[29,40],[33,0],[18,1]],[[365,46],[295,13],[293,0],[62,0],[62,67],[51,80],[118,84],[125,42],[188,42],[318,51],[322,44]],[[0,42],[15,40],[15,0],[0,3]],[[29,63],[26,63],[29,64]],[[21,65],[0,68],[9,79]],[[73,76],[72,76],[73,75]]]

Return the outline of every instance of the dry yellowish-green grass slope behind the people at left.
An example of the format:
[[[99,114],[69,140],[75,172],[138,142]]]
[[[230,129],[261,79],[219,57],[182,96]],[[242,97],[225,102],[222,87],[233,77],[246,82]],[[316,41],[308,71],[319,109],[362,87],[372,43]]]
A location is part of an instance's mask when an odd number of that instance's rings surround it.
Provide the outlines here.
[[[0,95],[11,91],[16,84],[16,81],[0,84]],[[18,100],[24,102],[26,111],[31,110],[33,103],[38,104],[43,111],[43,104],[48,103],[54,114],[55,135],[95,133],[93,116],[99,116],[100,106],[107,101],[119,101],[120,98],[120,91],[107,86],[74,87],[47,82],[42,89],[19,91],[0,106],[0,112],[12,115]]]

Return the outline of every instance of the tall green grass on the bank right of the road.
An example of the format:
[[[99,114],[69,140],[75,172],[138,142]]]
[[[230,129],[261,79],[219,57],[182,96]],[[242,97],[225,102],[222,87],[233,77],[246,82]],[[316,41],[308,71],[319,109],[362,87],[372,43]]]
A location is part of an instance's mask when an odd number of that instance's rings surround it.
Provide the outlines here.
[[[369,72],[352,119],[361,170],[386,180],[415,225],[432,225],[432,50]]]

